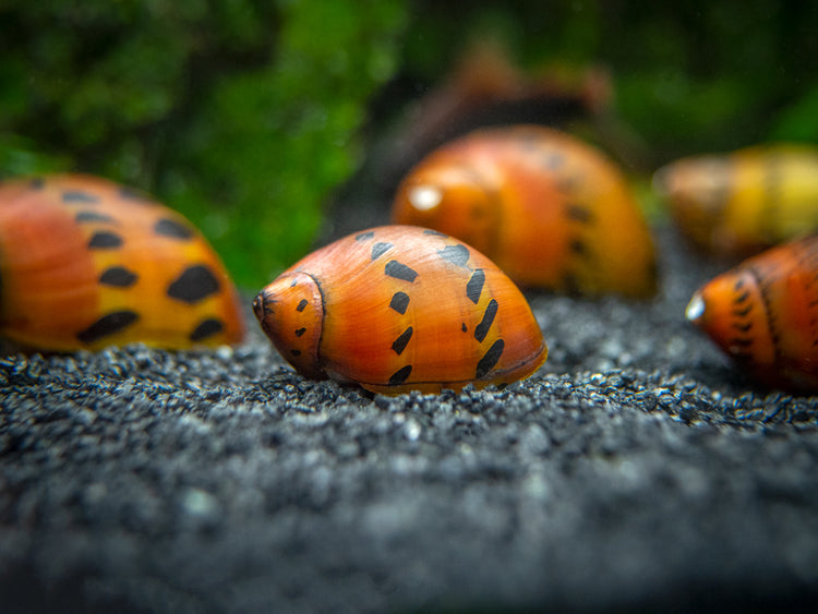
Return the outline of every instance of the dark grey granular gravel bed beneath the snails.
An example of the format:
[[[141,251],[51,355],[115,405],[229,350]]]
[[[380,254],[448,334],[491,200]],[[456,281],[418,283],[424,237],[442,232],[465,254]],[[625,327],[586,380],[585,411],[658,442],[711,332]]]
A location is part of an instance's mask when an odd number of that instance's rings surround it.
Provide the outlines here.
[[[373,396],[262,337],[0,362],[3,612],[791,611],[818,586],[818,402],[647,303],[529,293],[506,389]],[[248,315],[250,311],[248,309]]]

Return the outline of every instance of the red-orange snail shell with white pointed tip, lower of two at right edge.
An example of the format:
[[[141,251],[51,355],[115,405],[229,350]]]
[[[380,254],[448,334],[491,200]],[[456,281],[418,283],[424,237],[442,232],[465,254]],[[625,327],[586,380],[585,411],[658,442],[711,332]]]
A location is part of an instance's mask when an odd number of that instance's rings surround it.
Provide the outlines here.
[[[760,382],[818,393],[818,236],[718,276],[686,315]]]

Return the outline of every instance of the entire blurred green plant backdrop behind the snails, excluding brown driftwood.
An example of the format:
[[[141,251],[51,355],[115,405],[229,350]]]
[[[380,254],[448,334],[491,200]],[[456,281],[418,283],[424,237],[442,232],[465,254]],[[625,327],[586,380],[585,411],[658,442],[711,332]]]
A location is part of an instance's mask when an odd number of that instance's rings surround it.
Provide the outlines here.
[[[0,173],[147,190],[253,290],[311,249],[378,127],[476,39],[524,69],[605,68],[645,174],[818,142],[816,32],[806,1],[0,0]]]

